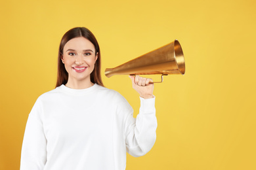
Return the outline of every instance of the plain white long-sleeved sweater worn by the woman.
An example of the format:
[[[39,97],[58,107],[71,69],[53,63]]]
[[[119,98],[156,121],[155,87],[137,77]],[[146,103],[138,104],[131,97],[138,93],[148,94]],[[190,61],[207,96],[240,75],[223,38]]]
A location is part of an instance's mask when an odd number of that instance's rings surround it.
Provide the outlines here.
[[[146,154],[156,141],[155,98],[129,103],[98,84],[64,85],[41,95],[28,117],[20,170],[123,170],[126,151]]]

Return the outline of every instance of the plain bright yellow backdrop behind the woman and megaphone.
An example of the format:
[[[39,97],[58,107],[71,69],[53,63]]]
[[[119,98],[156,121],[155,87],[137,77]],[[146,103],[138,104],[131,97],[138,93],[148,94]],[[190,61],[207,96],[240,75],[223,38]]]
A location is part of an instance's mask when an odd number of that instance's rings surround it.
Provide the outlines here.
[[[256,169],[255,9],[253,0],[1,1],[0,169],[19,169],[28,114],[54,88],[60,39],[77,26],[95,34],[104,84],[135,116],[130,79],[104,69],[181,42],[186,73],[155,85],[157,140],[127,169]]]

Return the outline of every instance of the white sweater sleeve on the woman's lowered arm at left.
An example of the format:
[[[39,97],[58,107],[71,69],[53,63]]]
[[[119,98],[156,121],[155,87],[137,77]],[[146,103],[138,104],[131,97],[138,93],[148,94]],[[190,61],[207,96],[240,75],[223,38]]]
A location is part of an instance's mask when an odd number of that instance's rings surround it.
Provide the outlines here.
[[[42,170],[47,161],[47,140],[43,131],[42,107],[37,99],[26,124],[20,170]]]

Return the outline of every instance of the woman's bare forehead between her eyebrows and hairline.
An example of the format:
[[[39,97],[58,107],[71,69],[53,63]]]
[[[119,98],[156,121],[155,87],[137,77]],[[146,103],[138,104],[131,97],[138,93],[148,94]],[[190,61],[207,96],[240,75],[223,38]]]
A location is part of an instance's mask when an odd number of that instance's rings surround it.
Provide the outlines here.
[[[95,46],[91,41],[85,39],[85,37],[76,37],[68,41],[64,46],[64,51],[68,49],[73,50],[93,50],[95,51]]]

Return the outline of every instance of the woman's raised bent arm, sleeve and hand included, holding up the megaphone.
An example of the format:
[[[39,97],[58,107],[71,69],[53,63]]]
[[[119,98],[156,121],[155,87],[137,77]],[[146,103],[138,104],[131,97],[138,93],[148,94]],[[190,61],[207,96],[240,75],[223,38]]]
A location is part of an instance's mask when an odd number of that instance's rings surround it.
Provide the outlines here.
[[[133,88],[140,94],[140,112],[137,118],[133,114],[127,116],[125,121],[125,135],[127,152],[138,157],[146,154],[154,146],[156,141],[155,97],[153,95],[154,84],[150,78],[130,76]]]

